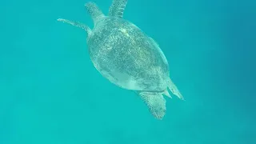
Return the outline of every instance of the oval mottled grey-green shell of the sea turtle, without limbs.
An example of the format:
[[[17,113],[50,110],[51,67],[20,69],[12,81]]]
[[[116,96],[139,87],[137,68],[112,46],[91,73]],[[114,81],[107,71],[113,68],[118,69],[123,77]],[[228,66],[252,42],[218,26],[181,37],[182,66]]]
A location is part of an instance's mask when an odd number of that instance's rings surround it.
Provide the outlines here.
[[[158,44],[133,23],[102,18],[87,38],[87,45],[96,69],[115,85],[128,90],[166,90],[166,57]]]

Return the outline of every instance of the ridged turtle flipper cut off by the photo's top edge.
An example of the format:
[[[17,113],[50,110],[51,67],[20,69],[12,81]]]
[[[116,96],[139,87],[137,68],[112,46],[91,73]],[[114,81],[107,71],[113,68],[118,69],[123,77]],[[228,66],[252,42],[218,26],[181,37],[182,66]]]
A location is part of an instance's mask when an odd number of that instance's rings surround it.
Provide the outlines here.
[[[110,6],[109,15],[122,18],[128,0],[113,0]]]

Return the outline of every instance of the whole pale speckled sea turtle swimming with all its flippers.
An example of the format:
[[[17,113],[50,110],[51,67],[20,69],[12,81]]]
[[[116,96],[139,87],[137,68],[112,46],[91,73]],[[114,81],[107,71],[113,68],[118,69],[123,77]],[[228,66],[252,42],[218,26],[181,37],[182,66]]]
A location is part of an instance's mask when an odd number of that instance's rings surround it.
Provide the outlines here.
[[[170,91],[183,100],[178,88],[170,80],[169,66],[157,42],[133,23],[123,19],[127,0],[113,0],[106,16],[94,2],[86,3],[86,10],[94,21],[94,29],[63,18],[87,32],[87,46],[95,68],[110,82],[126,90],[134,90],[148,106],[155,118],[166,114],[166,100]]]

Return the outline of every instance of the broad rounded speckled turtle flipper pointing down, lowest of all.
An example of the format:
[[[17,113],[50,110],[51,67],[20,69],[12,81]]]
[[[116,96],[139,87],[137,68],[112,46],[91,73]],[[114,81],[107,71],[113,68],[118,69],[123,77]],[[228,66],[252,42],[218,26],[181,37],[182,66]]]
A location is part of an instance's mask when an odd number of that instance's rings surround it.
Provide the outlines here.
[[[162,119],[166,114],[166,99],[159,92],[138,92],[154,118]]]

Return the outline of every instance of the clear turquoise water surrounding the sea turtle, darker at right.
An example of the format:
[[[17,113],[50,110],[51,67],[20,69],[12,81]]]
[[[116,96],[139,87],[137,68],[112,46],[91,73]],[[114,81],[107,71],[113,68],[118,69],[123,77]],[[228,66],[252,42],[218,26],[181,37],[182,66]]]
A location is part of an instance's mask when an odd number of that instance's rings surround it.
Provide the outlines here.
[[[111,0],[93,0],[106,14]],[[254,144],[256,2],[129,0],[124,18],[154,38],[186,98],[153,118],[90,62],[93,26],[77,1],[1,2],[0,144]]]

